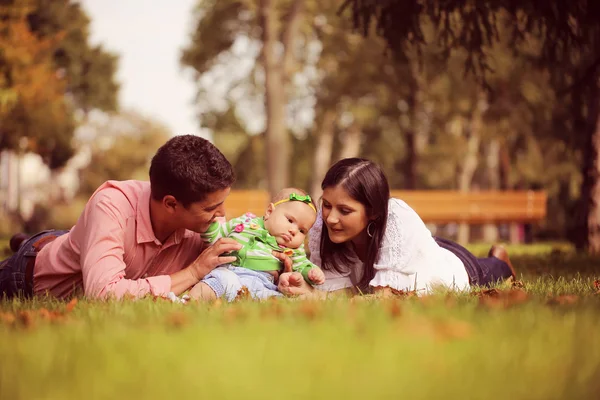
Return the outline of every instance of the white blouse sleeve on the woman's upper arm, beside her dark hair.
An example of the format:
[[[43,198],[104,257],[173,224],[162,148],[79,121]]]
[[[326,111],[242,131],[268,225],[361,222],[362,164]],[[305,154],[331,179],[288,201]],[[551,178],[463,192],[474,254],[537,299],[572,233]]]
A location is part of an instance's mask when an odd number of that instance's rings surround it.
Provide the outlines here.
[[[388,219],[379,257],[374,264],[375,277],[370,286],[389,286],[397,290],[410,290],[409,275],[415,274],[415,257],[421,249],[419,242],[431,240],[431,233],[406,203],[390,199]]]

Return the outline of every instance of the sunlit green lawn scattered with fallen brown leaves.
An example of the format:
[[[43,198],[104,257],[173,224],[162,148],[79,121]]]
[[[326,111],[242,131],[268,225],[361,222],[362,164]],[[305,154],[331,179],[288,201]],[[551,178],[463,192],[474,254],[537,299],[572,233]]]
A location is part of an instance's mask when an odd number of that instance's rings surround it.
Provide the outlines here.
[[[4,301],[0,398],[597,398],[600,259],[510,251],[523,288],[479,295]]]

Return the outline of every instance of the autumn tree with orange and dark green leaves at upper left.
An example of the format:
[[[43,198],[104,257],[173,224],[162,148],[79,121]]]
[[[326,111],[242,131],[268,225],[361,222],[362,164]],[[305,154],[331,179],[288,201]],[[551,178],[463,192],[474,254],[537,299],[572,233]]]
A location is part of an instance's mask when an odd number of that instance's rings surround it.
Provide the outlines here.
[[[4,0],[0,21],[0,150],[60,168],[74,153],[76,111],[116,108],[117,57],[89,44],[89,19],[71,0]]]

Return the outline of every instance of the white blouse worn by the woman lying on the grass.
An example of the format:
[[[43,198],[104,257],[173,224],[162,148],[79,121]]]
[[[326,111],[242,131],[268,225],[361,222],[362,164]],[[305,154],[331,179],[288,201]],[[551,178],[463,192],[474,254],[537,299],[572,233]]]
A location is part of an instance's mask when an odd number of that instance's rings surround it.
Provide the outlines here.
[[[309,233],[310,260],[321,265],[320,241],[323,229],[321,211]],[[388,220],[379,257],[374,265],[372,287],[389,286],[396,290],[416,290],[425,294],[435,287],[457,290],[469,288],[469,277],[460,259],[441,248],[417,213],[404,201],[390,199]],[[352,252],[350,265],[343,273],[324,271],[321,290],[333,291],[354,287],[364,272],[364,264]]]

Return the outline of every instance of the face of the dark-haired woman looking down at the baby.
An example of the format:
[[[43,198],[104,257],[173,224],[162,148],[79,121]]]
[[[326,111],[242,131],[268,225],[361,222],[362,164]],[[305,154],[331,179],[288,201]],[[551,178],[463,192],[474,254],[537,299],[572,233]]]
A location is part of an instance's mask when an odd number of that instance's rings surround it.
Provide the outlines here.
[[[350,197],[342,186],[323,190],[322,201],[323,221],[333,243],[356,240],[367,228],[369,219],[365,206]]]

